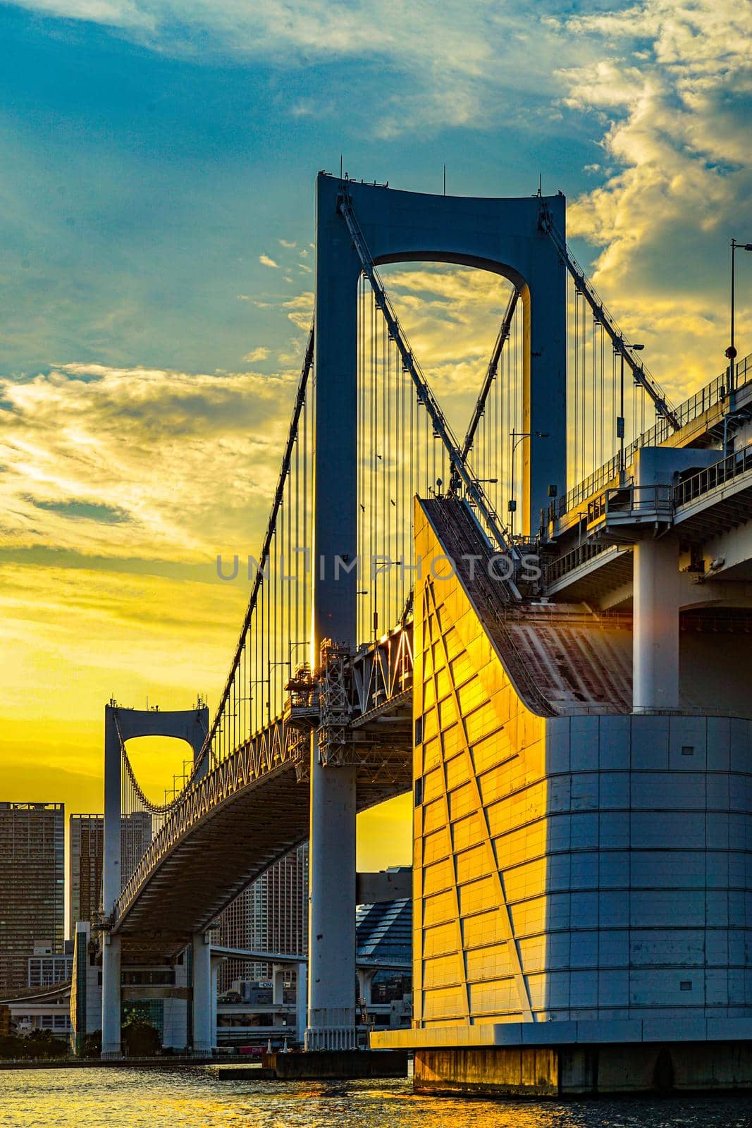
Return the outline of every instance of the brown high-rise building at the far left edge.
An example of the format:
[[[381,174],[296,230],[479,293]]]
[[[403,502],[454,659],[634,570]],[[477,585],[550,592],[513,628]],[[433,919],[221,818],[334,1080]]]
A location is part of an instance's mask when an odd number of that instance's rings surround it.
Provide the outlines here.
[[[65,809],[0,803],[0,998],[26,988],[37,937],[63,952]]]

